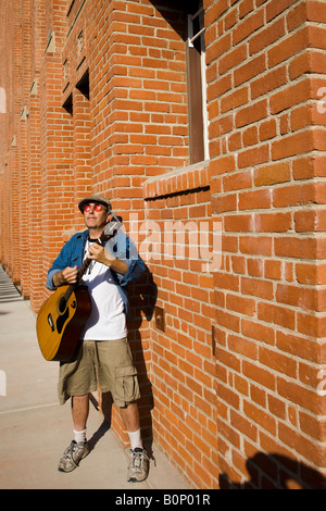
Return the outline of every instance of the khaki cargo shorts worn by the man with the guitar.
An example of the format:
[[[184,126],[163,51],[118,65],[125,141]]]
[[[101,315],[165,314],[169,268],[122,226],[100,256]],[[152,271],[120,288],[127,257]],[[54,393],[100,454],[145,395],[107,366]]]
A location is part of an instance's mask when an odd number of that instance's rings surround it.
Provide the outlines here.
[[[60,404],[72,396],[85,396],[100,388],[111,392],[117,407],[140,398],[137,371],[127,338],[84,340],[77,358],[62,362],[59,371]]]

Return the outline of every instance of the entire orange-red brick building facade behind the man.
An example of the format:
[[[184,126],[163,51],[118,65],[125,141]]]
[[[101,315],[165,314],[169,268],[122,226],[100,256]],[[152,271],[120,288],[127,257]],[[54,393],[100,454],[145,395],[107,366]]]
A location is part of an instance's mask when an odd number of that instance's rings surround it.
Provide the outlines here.
[[[78,201],[110,197],[148,267],[146,436],[196,488],[324,487],[326,3],[0,7],[5,271],[37,313]]]

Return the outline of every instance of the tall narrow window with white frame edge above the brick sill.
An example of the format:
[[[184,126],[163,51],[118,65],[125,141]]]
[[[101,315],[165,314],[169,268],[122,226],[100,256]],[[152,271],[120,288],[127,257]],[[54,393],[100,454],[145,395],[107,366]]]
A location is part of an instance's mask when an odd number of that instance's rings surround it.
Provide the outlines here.
[[[209,159],[204,11],[202,1],[188,14],[187,84],[190,163]]]

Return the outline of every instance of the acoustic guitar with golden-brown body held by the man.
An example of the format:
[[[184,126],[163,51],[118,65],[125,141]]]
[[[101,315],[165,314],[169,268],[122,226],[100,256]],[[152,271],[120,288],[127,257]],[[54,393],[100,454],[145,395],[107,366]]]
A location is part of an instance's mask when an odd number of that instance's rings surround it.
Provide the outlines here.
[[[122,222],[114,214],[113,217],[96,240],[97,244],[104,245],[115,236]],[[86,258],[78,270],[76,284],[58,287],[38,312],[37,339],[46,360],[67,362],[77,349],[80,332],[91,310],[88,288],[82,281],[91,261]]]

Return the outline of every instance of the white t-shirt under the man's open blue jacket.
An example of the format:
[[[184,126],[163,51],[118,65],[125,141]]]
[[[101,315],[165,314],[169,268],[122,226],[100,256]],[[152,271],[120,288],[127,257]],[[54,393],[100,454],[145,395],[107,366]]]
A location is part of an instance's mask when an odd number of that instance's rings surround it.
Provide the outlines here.
[[[85,257],[89,241],[86,242]],[[88,287],[91,312],[82,332],[85,340],[114,340],[127,335],[124,302],[118,285],[105,264],[92,261],[83,277]]]

